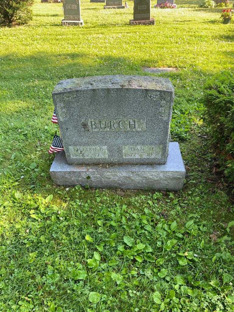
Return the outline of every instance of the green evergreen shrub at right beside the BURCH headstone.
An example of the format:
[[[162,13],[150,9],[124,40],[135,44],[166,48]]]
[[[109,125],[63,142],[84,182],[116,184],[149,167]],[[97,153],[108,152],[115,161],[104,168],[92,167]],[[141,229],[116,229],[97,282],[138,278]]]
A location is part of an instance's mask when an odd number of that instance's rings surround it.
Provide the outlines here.
[[[220,164],[234,181],[234,77],[225,71],[204,86],[205,122],[211,143],[219,149]]]

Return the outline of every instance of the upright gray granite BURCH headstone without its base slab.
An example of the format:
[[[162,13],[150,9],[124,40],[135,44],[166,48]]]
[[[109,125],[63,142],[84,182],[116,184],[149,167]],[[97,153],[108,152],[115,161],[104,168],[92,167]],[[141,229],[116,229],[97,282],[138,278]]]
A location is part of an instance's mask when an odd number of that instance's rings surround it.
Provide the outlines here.
[[[165,164],[174,87],[149,76],[62,80],[53,101],[69,164]]]

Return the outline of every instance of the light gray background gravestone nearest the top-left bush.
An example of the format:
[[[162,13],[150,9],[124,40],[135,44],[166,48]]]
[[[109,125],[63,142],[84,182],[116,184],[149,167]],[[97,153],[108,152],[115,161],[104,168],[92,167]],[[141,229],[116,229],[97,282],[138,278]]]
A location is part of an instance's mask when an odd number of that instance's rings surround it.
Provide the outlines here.
[[[84,22],[80,16],[80,0],[63,1],[64,19],[63,26],[83,26]]]

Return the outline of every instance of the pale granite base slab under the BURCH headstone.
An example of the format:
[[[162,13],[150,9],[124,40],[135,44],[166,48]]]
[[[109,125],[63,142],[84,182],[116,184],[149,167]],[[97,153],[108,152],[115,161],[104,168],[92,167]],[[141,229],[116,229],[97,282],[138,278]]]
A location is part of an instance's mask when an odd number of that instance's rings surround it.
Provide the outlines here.
[[[69,165],[62,151],[56,154],[50,175],[56,185],[178,191],[184,184],[185,167],[178,142],[171,142],[164,165]]]

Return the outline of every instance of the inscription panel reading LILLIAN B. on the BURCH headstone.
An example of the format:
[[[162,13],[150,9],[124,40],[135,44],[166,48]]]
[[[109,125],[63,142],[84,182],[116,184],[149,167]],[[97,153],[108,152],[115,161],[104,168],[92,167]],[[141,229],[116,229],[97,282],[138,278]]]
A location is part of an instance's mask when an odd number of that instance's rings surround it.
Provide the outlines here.
[[[108,158],[107,146],[69,146],[71,158]]]

